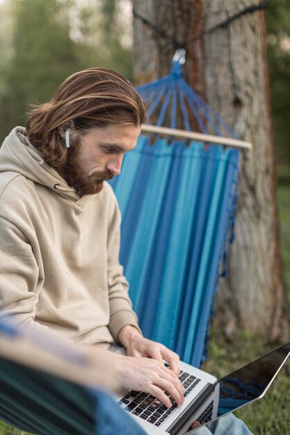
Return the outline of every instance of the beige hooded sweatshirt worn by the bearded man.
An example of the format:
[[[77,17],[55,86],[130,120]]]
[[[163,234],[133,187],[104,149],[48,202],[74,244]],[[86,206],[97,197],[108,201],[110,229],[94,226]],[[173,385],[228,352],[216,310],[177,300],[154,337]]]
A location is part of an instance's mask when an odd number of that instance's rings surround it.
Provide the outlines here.
[[[138,327],[108,183],[79,197],[16,127],[0,149],[0,309],[35,332],[113,343]]]

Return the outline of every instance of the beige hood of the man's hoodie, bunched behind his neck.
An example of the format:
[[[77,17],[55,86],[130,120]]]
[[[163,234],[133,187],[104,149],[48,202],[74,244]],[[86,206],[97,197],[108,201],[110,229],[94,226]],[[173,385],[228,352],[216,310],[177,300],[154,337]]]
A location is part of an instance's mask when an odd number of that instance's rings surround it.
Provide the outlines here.
[[[80,199],[74,188],[68,186],[61,175],[44,161],[38,149],[31,145],[22,126],[11,131],[0,149],[0,172],[7,171],[42,184],[66,199],[74,202]],[[95,195],[86,195],[86,199],[92,196]]]

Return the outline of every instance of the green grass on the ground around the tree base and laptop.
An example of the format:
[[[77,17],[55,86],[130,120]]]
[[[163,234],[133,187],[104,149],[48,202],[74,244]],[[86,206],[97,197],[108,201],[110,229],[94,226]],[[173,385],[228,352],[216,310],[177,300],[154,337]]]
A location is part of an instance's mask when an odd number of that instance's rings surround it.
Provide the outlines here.
[[[278,186],[277,200],[282,258],[290,299],[290,184],[282,183]],[[235,334],[232,343],[228,343],[221,331],[211,330],[209,358],[202,367],[204,370],[216,377],[223,377],[273,349],[262,345],[248,331],[236,331]],[[266,397],[236,412],[236,416],[245,421],[254,435],[290,434],[290,363],[287,368],[288,375],[287,371],[283,370]],[[0,435],[24,434],[26,432],[14,429],[0,421]]]

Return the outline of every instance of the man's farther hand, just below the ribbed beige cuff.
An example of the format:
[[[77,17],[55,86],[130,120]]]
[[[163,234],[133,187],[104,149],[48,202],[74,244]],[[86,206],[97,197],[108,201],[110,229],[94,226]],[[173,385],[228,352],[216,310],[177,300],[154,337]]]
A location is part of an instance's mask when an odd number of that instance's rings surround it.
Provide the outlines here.
[[[128,356],[145,356],[161,363],[165,359],[169,363],[170,369],[179,376],[179,356],[161,343],[144,338],[135,327],[131,325],[122,327],[118,334],[118,340],[126,347]]]

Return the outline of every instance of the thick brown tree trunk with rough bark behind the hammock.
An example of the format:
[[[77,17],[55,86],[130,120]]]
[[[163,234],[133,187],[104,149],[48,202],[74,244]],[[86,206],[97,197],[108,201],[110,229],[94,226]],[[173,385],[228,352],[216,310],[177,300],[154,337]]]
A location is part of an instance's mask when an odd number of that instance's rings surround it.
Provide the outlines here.
[[[134,19],[134,76],[145,83],[168,74],[180,42],[252,6],[252,0],[133,0],[166,38]],[[239,326],[265,340],[289,338],[290,307],[280,256],[273,132],[264,12],[248,13],[186,47],[185,79],[242,139],[236,240],[216,297],[215,322],[230,336]]]

